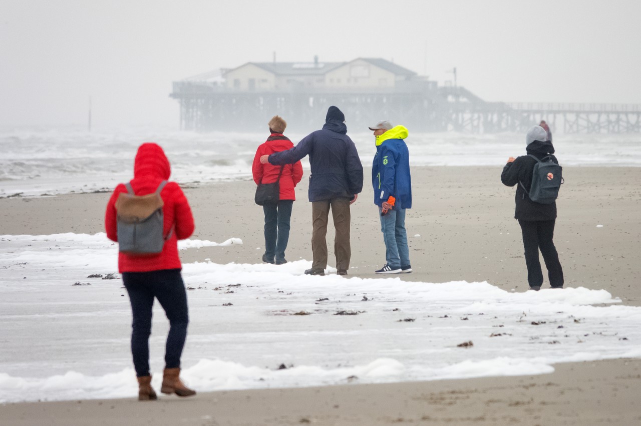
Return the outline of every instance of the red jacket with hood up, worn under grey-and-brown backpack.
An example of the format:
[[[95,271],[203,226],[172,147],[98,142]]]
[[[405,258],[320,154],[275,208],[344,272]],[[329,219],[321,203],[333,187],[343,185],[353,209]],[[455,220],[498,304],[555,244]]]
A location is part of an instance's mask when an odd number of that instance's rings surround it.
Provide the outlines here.
[[[131,187],[136,195],[152,194],[163,180],[169,179],[171,166],[165,152],[155,143],[144,143],[138,148],[133,166]],[[120,193],[126,193],[124,184],[119,184],[107,203],[104,214],[104,226],[107,237],[118,241],[115,202]],[[176,182],[167,182],[160,193],[163,202],[164,232],[169,233],[175,225],[174,232],[165,242],[162,253],[153,256],[132,256],[118,254],[119,272],[149,272],[160,269],[181,269],[178,256],[178,240],[186,239],[194,233],[194,217],[187,198]]]

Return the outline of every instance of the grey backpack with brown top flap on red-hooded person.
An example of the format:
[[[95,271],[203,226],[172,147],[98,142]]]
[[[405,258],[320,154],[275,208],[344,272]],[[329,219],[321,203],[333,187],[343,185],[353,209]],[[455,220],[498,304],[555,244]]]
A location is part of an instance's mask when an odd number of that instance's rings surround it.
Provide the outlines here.
[[[163,212],[165,203],[160,192],[167,184],[163,180],[156,192],[138,196],[127,182],[127,193],[121,193],[116,200],[118,244],[121,253],[149,256],[162,252],[165,241],[173,232],[163,235]]]

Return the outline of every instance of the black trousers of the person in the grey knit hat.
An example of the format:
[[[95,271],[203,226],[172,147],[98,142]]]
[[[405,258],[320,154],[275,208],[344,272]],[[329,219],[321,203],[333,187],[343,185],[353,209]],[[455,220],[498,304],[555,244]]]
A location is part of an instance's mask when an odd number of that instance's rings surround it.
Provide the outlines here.
[[[563,287],[563,269],[559,262],[559,255],[554,247],[554,221],[523,221],[519,219],[523,234],[523,248],[525,249],[525,263],[528,265],[529,287],[540,287],[543,284],[541,262],[538,260],[538,251],[541,251],[547,278],[551,287]]]

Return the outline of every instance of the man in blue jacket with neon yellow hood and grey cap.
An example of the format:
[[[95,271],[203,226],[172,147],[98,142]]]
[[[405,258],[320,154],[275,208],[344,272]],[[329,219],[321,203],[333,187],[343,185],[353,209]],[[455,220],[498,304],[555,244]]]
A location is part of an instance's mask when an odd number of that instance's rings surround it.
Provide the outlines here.
[[[376,136],[376,155],[372,164],[374,204],[381,217],[385,241],[386,264],[377,274],[412,272],[410,249],[405,230],[405,210],[412,209],[412,178],[410,152],[403,139],[408,131],[404,126],[392,126],[387,120],[369,127]]]

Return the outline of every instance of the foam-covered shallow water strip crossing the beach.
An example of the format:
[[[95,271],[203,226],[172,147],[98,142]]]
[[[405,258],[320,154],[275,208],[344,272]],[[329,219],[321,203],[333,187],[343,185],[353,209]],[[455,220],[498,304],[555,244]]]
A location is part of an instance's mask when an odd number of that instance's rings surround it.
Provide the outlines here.
[[[606,290],[306,276],[310,263],[183,265],[186,381],[199,391],[389,383],[641,357],[641,308]],[[116,244],[104,233],[2,235],[0,265],[0,402],[135,396]],[[166,335],[156,306],[155,386]]]

